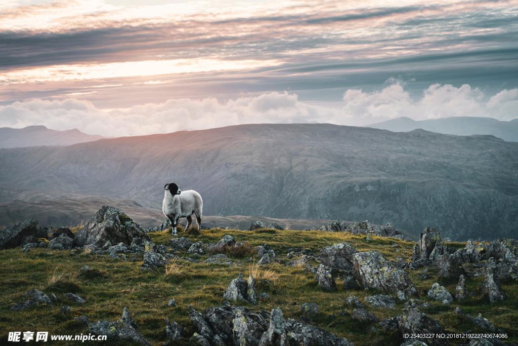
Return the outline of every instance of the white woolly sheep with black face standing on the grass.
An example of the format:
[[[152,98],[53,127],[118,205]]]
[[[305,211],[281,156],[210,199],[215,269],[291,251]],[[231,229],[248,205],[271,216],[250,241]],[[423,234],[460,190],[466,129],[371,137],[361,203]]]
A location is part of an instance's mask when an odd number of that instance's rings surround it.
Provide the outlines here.
[[[202,196],[194,190],[181,191],[177,184],[169,183],[164,186],[164,201],[162,202],[162,212],[169,219],[172,226],[172,235],[176,236],[176,226],[180,217],[187,218],[188,229],[192,223],[192,214],[196,215],[198,230],[202,227]]]

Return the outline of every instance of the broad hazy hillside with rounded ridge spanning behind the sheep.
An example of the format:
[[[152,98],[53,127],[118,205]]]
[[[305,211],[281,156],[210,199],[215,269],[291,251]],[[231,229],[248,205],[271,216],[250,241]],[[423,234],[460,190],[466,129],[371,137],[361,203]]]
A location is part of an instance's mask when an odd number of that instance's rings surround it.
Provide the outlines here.
[[[177,182],[202,194],[206,215],[368,219],[453,239],[518,227],[518,143],[493,136],[256,124],[1,149],[0,162],[0,202],[73,192],[160,213]]]

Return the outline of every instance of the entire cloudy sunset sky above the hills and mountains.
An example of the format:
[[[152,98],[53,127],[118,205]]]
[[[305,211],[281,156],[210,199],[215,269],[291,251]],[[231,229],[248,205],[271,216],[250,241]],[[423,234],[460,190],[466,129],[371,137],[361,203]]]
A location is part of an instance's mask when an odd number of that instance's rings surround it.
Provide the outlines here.
[[[518,118],[518,0],[4,0],[0,127]]]

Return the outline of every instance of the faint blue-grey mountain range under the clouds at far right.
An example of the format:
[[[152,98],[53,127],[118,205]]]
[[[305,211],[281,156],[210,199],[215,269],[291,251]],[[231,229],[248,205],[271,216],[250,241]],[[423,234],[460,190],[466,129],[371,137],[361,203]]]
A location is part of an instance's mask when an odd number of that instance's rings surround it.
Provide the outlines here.
[[[378,122],[365,127],[407,132],[415,129],[468,136],[472,134],[491,134],[504,141],[518,142],[518,119],[500,121],[483,117],[449,117],[429,120],[413,120],[407,117]]]

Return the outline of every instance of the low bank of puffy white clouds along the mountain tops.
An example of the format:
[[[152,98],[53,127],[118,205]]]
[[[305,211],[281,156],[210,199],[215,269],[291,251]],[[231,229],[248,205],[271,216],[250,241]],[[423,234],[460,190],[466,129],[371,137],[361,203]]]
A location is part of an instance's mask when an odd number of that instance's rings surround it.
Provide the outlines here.
[[[349,89],[338,107],[312,105],[287,92],[270,92],[220,102],[172,99],[131,108],[99,109],[86,100],[32,99],[0,106],[0,127],[44,125],[55,130],[77,128],[104,136],[145,135],[199,130],[243,123],[330,122],[365,125],[400,116],[416,120],[450,116],[518,117],[518,89],[486,95],[463,85],[434,84],[415,99],[404,84],[392,81],[373,92]]]

